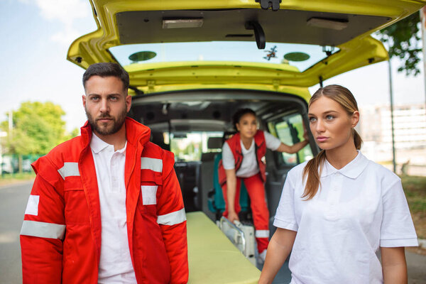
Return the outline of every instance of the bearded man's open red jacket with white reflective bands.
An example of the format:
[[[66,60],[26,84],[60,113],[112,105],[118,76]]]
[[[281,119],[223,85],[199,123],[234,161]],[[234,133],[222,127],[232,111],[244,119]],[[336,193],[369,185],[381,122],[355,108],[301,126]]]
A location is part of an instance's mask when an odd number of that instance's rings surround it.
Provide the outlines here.
[[[173,153],[126,119],[127,234],[138,283],[187,283],[186,217]],[[21,229],[23,283],[97,283],[101,212],[92,129],[33,163],[37,177]],[[143,185],[157,185],[156,200]]]

